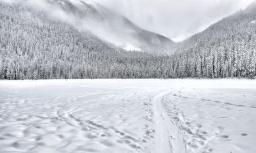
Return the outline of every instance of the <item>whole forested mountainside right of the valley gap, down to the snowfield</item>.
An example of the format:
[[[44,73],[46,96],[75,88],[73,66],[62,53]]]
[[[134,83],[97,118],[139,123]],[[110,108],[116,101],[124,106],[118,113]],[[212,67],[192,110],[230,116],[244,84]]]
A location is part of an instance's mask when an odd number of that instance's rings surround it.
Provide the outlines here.
[[[183,77],[255,77],[256,2],[172,46]]]

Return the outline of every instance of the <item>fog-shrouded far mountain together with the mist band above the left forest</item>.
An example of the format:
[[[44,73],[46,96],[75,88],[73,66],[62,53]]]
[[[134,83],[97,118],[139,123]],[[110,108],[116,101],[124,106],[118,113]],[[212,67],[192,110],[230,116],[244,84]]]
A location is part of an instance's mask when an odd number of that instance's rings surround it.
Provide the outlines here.
[[[18,5],[23,3],[44,12],[49,18],[71,25],[80,32],[92,33],[99,39],[127,51],[165,54],[174,44],[167,37],[139,28],[124,16],[92,0],[1,1]]]

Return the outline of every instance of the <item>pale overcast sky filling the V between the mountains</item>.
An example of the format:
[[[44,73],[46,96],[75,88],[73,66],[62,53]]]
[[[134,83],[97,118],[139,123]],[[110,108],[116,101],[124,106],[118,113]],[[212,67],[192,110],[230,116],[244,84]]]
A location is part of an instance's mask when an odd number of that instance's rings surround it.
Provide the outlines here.
[[[181,41],[253,0],[95,0],[144,29]]]

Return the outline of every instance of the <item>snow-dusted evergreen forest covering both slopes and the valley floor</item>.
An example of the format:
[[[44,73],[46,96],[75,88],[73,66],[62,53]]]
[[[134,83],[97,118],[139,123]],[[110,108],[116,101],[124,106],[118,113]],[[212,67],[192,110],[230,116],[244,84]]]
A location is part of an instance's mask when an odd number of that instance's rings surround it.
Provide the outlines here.
[[[255,12],[237,12],[177,44],[175,54],[153,56],[0,3],[0,79],[255,78]]]

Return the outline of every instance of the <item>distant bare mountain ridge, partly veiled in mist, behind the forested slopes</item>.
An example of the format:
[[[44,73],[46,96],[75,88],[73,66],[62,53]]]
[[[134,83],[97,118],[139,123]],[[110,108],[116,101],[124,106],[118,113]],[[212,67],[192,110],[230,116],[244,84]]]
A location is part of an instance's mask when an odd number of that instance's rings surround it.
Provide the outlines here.
[[[86,29],[100,39],[126,50],[141,50],[152,54],[166,54],[174,42],[167,37],[146,31],[122,15],[92,0],[51,0],[79,20],[90,24]],[[76,25],[77,26],[77,25]],[[84,27],[80,27],[84,28]],[[129,47],[132,46],[132,47]]]

